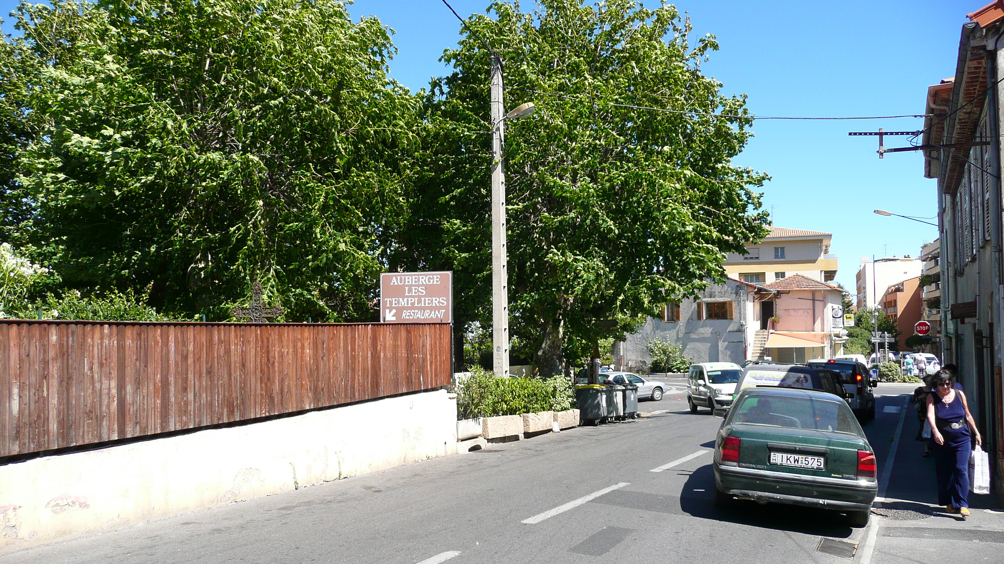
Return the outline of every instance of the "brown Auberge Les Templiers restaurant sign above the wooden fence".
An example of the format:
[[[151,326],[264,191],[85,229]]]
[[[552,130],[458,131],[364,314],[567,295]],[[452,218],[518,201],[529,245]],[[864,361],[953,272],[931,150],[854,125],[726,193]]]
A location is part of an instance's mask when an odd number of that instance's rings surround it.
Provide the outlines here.
[[[392,323],[453,321],[452,272],[380,275],[380,318]]]

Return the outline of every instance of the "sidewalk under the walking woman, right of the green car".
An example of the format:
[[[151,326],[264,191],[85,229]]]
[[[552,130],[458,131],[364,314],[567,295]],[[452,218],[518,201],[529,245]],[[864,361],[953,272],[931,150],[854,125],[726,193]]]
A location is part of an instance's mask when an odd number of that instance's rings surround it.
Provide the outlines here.
[[[969,519],[943,513],[934,458],[924,458],[924,444],[914,440],[919,429],[909,405],[885,501],[873,506],[854,562],[1004,562],[1004,511],[994,496],[971,494]]]

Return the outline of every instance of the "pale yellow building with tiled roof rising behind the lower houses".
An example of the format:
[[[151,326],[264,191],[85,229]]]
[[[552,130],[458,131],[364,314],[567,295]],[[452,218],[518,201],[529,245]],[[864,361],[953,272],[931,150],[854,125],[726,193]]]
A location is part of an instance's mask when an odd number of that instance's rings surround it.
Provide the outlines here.
[[[747,254],[729,253],[723,266],[729,277],[751,284],[772,284],[792,274],[829,282],[836,278],[831,238],[819,231],[771,227],[763,241],[746,244]]]

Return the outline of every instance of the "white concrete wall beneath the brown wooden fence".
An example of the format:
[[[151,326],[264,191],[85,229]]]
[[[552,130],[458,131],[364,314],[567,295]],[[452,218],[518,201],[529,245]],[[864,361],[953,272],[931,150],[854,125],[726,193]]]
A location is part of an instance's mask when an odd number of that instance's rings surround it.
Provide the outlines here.
[[[445,390],[0,466],[0,554],[457,452]]]

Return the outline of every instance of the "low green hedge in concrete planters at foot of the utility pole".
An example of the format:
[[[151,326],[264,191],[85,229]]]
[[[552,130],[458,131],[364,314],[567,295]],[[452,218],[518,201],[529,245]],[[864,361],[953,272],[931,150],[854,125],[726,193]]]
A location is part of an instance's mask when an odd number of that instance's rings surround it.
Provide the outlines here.
[[[457,384],[457,417],[494,417],[534,411],[563,411],[575,400],[571,380],[551,378],[496,378],[475,367]]]

